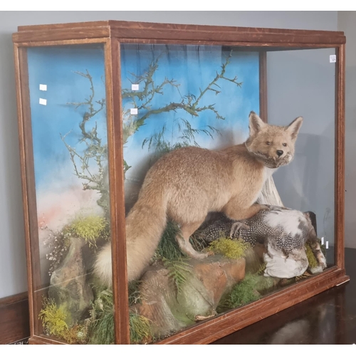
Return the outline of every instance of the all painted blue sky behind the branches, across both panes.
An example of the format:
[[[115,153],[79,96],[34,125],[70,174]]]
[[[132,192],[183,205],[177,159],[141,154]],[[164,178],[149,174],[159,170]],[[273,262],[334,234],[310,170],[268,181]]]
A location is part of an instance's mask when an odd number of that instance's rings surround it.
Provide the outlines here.
[[[230,51],[220,46],[165,46],[165,45],[133,45],[125,44],[121,48],[121,79],[122,88],[131,88],[135,83],[135,75],[140,76],[147,71],[152,59],[158,58],[158,68],[153,80],[155,85],[162,83],[164,78],[175,80],[177,88],[165,85],[162,94],[156,94],[150,103],[152,109],[162,108],[169,103],[181,103],[184,95],[199,96],[216,73],[221,71]],[[75,109],[68,103],[83,102],[90,95],[89,80],[74,73],[86,73],[93,77],[95,100],[105,98],[105,67],[104,53],[101,45],[56,46],[28,48],[28,74],[31,99],[31,119],[33,128],[33,153],[35,158],[36,187],[41,189],[58,176],[61,168],[66,168],[66,175],[73,179],[73,164],[66,146],[61,140],[62,135],[70,146],[80,150],[79,122],[87,109],[81,106]],[[134,75],[132,75],[132,73]],[[135,175],[135,166],[147,161],[150,152],[147,146],[142,149],[142,142],[167,125],[167,140],[172,144],[179,141],[180,134],[176,123],[180,119],[189,120],[195,129],[204,129],[211,125],[220,130],[222,136],[214,135],[214,140],[204,134],[196,135],[195,139],[201,147],[213,148],[218,142],[224,142],[224,132],[236,131],[245,137],[248,135],[248,114],[251,110],[259,111],[259,79],[258,53],[233,51],[230,63],[226,66],[226,78],[237,77],[241,88],[228,80],[219,79],[214,86],[221,93],[208,91],[199,102],[199,106],[215,104],[214,108],[226,120],[216,119],[211,110],[192,117],[184,110],[165,112],[150,116],[145,125],[132,135],[125,145],[125,159],[132,166],[127,173]],[[47,91],[39,90],[40,84],[47,85]],[[141,88],[142,89],[142,86]],[[47,105],[38,103],[40,98],[47,100]],[[118,98],[114,98],[118,100]],[[123,101],[124,109],[131,108],[130,100]],[[144,112],[139,112],[140,117]],[[98,132],[103,141],[107,140],[106,112],[100,112],[95,120]],[[94,122],[92,123],[92,125]],[[90,127],[90,125],[88,125]],[[67,172],[68,171],[68,172]],[[48,179],[50,178],[50,179]]]

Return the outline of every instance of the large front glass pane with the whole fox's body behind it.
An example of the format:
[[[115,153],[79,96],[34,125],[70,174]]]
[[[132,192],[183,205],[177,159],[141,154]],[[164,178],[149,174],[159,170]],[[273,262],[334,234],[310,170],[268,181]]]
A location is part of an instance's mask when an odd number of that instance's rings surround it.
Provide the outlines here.
[[[263,57],[241,48],[121,46],[132,343],[333,265],[335,63],[326,52],[268,53],[259,73]]]

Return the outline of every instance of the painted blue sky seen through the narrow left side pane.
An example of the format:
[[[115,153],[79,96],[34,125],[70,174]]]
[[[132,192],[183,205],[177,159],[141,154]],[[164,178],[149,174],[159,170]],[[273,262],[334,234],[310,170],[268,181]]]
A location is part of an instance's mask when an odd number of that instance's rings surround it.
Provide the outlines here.
[[[70,134],[66,142],[78,146],[80,139],[79,122],[88,106],[75,110],[68,103],[83,102],[90,95],[90,82],[74,73],[86,73],[93,77],[95,100],[105,98],[105,67],[102,45],[56,46],[28,48],[28,77],[31,100],[31,120],[33,132],[33,155],[35,159],[36,187],[46,185],[60,167],[70,165],[70,156],[61,135]],[[47,90],[39,90],[46,84]],[[47,105],[39,104],[39,98],[47,100]],[[95,116],[98,132],[103,142],[107,141],[106,112]],[[94,122],[88,124],[93,125]],[[69,162],[69,164],[68,164]],[[68,174],[73,174],[73,166]]]

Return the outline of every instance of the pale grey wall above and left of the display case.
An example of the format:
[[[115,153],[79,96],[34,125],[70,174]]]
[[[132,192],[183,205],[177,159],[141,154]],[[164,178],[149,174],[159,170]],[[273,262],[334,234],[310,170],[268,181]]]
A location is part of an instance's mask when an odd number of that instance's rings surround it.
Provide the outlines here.
[[[270,28],[337,29],[337,11],[0,12],[0,298],[27,289],[11,33],[16,32],[16,26],[22,25],[108,19]]]

